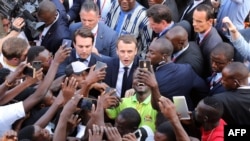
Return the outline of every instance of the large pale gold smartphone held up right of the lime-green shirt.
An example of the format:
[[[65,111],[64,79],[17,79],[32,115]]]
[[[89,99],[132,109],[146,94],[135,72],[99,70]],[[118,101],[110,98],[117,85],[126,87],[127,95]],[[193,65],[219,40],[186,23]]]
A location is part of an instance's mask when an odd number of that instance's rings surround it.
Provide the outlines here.
[[[181,120],[190,119],[185,96],[173,96],[173,101],[174,101],[174,105],[176,107],[177,113],[180,114],[180,119]]]

